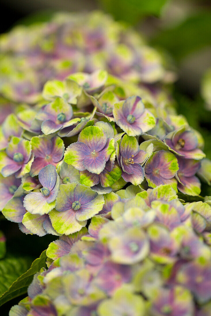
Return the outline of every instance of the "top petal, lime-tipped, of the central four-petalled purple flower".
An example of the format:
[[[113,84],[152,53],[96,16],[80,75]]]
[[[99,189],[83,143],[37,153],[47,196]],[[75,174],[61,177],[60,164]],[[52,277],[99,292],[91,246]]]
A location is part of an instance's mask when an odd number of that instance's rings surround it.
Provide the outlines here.
[[[101,127],[88,126],[80,132],[78,142],[85,143],[89,147],[90,152],[93,150],[99,152],[105,147],[107,136]]]

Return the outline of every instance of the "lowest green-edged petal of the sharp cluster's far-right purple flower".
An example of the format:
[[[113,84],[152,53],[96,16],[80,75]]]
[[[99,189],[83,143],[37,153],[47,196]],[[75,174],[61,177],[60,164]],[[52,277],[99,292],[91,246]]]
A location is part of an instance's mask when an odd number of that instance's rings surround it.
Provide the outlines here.
[[[180,192],[192,196],[199,195],[201,192],[201,182],[195,176],[193,177],[185,177],[179,176],[181,183],[178,182],[177,188]]]

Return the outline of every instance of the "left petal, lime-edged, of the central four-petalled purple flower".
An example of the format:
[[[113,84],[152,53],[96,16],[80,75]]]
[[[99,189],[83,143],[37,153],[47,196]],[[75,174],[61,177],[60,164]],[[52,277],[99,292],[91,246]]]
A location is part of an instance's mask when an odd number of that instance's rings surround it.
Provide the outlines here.
[[[64,161],[68,165],[72,165],[75,169],[83,171],[86,168],[83,165],[83,160],[87,155],[90,155],[91,151],[86,144],[77,142],[70,144],[64,154]]]

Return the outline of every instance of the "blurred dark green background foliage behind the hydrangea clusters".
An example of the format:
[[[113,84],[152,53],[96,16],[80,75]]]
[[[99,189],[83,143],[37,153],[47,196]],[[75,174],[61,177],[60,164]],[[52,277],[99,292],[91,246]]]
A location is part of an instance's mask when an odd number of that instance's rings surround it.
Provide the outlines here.
[[[90,11],[102,9],[116,20],[132,25],[151,45],[167,55],[177,73],[175,84],[170,87],[177,102],[177,110],[184,114],[189,124],[199,130],[205,139],[205,153],[211,159],[211,76],[205,74],[211,68],[211,2],[207,0],[0,0],[3,16],[0,33],[16,24],[29,25],[48,21],[52,14],[61,11]],[[201,89],[203,78],[209,77],[209,85]],[[201,94],[201,91],[203,94]],[[205,91],[205,93],[204,93]],[[210,188],[202,188],[201,195],[211,195]],[[10,262],[14,256],[22,256],[15,279],[24,272],[35,258],[55,239],[22,234],[15,223],[1,218],[1,229],[7,238],[7,255],[2,260]],[[33,245],[33,246],[32,246]],[[8,265],[8,276],[10,266]],[[11,267],[11,269],[13,269]],[[0,282],[3,281],[0,275]],[[1,280],[2,278],[2,280]],[[11,280],[10,280],[11,281]],[[9,281],[8,281],[9,282]],[[8,283],[9,284],[9,283]],[[0,289],[1,290],[1,289]],[[20,297],[1,308],[2,315]]]

